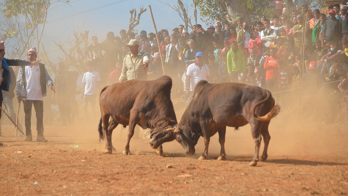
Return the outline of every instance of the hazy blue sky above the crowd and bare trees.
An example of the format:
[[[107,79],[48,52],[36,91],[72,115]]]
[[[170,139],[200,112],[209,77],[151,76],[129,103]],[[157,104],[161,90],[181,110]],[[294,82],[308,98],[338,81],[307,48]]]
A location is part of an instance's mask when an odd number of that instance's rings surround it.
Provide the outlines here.
[[[66,39],[71,40],[73,38],[74,30],[89,30],[89,39],[92,36],[97,36],[99,43],[106,39],[106,33],[109,31],[114,32],[115,36],[119,36],[121,29],[128,29],[129,10],[132,8],[136,8],[137,12],[139,12],[140,6],[148,9],[148,6],[151,5],[158,31],[160,29],[168,29],[170,32],[170,29],[183,24],[183,21],[175,10],[156,0],[126,0],[104,8],[50,22],[118,1],[120,0],[71,0],[69,5],[63,2],[52,3],[47,17],[48,23],[45,26],[44,35],[41,40],[50,58],[57,61],[57,56],[62,57],[62,52],[55,51],[59,48],[55,46],[53,40],[64,43],[63,47],[67,48],[69,45],[66,43]],[[168,2],[171,5],[177,2],[176,0],[161,1]],[[191,1],[188,1],[188,4],[191,5]],[[190,8],[189,10],[192,13]],[[3,17],[0,20],[3,20]],[[199,20],[199,14],[198,21],[197,23],[204,24]],[[139,33],[141,30],[145,30],[147,33],[154,32],[149,9],[141,15],[140,24],[135,29]]]

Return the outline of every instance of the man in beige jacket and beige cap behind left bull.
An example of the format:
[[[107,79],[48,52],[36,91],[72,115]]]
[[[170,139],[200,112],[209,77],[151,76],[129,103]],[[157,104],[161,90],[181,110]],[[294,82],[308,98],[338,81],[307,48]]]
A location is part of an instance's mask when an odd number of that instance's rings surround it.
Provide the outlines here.
[[[139,41],[136,39],[131,39],[126,46],[129,47],[130,52],[124,58],[119,82],[147,80],[150,54],[145,51],[139,51]]]

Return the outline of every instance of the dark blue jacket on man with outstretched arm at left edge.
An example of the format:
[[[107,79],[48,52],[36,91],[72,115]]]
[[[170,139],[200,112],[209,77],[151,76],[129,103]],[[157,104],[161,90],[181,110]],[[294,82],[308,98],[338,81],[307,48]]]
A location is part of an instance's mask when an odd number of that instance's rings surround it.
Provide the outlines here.
[[[2,59],[2,78],[3,81],[1,83],[1,90],[8,91],[10,83],[11,83],[11,74],[8,66],[26,66],[30,65],[30,62],[18,60],[18,59]],[[14,75],[12,77],[15,77]]]

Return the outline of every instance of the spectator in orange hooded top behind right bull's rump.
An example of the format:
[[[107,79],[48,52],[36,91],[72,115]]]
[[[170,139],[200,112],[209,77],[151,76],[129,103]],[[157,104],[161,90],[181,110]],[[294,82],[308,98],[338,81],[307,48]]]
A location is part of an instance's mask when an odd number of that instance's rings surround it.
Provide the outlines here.
[[[278,91],[278,56],[276,55],[276,48],[270,48],[270,56],[264,62],[264,69],[266,69],[266,83],[268,90],[271,92]]]

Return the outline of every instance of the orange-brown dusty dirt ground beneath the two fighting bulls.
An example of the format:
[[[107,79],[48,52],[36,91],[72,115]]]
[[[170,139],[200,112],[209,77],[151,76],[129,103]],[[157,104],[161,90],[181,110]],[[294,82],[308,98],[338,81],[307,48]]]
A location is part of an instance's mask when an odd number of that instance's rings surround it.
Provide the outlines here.
[[[2,126],[0,195],[348,194],[346,124],[300,125],[277,116],[270,123],[268,159],[256,167],[248,166],[254,152],[249,125],[227,129],[227,161],[216,160],[217,134],[211,138],[208,160],[197,160],[204,149],[202,138],[192,157],[176,141],[165,143],[165,156],[160,157],[149,139],[142,138],[132,138],[132,155],[125,156],[128,127],[114,130],[117,151],[104,154],[96,127],[97,120],[45,126],[49,142],[38,143],[22,142],[25,137],[15,137],[13,126]],[[35,126],[32,130],[35,141]]]

